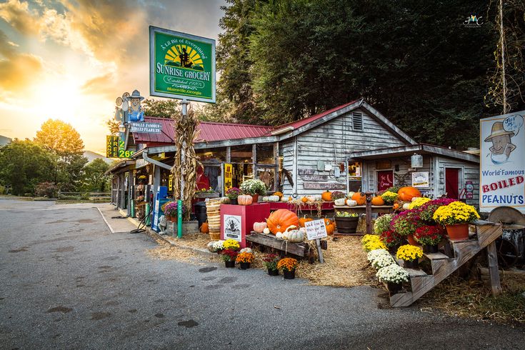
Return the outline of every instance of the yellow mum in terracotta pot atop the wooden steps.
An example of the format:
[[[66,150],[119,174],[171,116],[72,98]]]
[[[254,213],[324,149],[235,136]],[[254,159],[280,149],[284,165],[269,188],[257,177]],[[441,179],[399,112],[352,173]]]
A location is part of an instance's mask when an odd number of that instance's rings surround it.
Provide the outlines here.
[[[451,241],[466,241],[469,239],[469,224],[479,219],[479,214],[474,206],[453,201],[436,209],[432,219],[446,227],[446,234]]]

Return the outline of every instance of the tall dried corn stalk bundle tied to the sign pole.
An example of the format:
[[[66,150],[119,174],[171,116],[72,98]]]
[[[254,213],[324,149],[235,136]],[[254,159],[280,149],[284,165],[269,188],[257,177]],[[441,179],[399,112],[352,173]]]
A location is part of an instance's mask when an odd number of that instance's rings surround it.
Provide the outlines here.
[[[198,119],[193,109],[188,109],[188,115],[172,116],[175,129],[175,163],[171,167],[171,174],[174,179],[174,198],[182,199],[184,208],[191,208],[191,199],[196,191],[197,166],[201,162],[197,159],[194,149],[194,139],[199,136],[196,130]],[[184,161],[181,155],[184,153]],[[184,178],[184,193],[181,194],[181,178]],[[186,210],[183,219],[189,220],[190,210]]]

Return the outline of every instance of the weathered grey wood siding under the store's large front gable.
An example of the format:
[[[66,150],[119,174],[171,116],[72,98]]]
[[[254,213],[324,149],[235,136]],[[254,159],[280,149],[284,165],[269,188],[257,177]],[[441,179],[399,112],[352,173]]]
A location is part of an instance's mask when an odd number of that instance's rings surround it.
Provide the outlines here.
[[[362,115],[363,130],[354,131],[352,124],[352,114]],[[290,151],[294,151],[296,142],[296,156],[292,156]],[[339,184],[343,187],[340,191],[346,191],[347,174],[341,172],[341,176],[335,178],[334,171],[314,171],[315,176],[324,176],[326,181],[304,181],[299,175],[301,169],[317,169],[317,161],[324,161],[325,164],[344,163],[346,154],[355,151],[365,151],[369,149],[381,149],[386,147],[403,146],[407,144],[404,139],[394,135],[379,123],[374,117],[367,114],[362,109],[343,114],[331,121],[317,126],[314,129],[305,131],[296,136],[296,141],[287,140],[282,146],[284,157],[284,167],[286,169],[297,169],[294,171],[295,189],[291,186],[284,186],[284,194],[291,195],[296,193],[298,196],[306,194],[321,194],[323,189],[305,189],[304,183]],[[291,158],[291,159],[290,159]],[[296,164],[294,164],[296,161]],[[326,185],[329,186],[329,185]]]

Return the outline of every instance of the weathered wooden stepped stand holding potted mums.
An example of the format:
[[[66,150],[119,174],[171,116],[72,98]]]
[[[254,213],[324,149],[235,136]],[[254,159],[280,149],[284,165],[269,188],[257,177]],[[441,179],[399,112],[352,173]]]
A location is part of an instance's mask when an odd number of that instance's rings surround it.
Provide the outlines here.
[[[432,274],[426,274],[422,270],[406,269],[410,274],[411,291],[390,296],[391,306],[410,306],[484,248],[487,248],[492,293],[500,294],[498,258],[494,241],[502,234],[501,224],[489,221],[476,221],[474,224],[476,225],[476,236],[473,239],[450,241],[454,253],[453,258],[441,253],[425,254],[426,258],[431,261]],[[403,261],[398,261],[398,263],[403,266]]]

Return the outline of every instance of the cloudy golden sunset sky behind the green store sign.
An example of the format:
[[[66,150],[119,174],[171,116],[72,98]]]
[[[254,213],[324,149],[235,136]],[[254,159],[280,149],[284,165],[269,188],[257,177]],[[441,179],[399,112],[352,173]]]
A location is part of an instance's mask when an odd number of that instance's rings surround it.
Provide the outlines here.
[[[149,96],[148,27],[217,39],[224,0],[0,1],[0,134],[32,139],[49,118],[104,154],[115,99]]]

